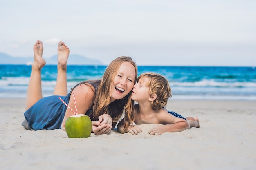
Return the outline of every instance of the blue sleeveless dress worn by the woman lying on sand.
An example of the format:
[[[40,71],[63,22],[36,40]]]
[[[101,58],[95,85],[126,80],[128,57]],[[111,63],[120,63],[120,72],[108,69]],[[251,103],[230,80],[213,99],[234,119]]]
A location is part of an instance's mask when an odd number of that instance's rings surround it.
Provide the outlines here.
[[[92,84],[92,86],[94,86],[96,95],[100,81],[87,83]],[[63,104],[63,102],[61,102],[59,97],[61,97],[61,99],[63,99],[63,101],[66,104],[68,104],[71,92],[72,90],[70,91],[70,93],[67,94],[67,96],[54,95],[49,97],[43,97],[42,99],[38,100],[38,102],[36,102],[24,113],[25,121],[22,123],[22,125],[26,129],[34,130],[60,129],[67,106]],[[85,114],[88,116],[92,116],[92,109],[93,104]],[[92,119],[92,117],[90,118]]]

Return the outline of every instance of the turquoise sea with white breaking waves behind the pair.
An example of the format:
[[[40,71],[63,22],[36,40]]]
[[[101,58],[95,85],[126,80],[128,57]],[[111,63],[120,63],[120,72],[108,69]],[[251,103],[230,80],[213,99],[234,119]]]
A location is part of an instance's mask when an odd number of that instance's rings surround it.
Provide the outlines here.
[[[68,88],[88,79],[101,79],[106,66],[67,68]],[[256,100],[256,69],[218,66],[138,66],[144,72],[162,74],[172,89],[172,99]],[[31,66],[0,65],[0,97],[26,97]],[[42,70],[43,95],[51,95],[56,83],[55,65]]]

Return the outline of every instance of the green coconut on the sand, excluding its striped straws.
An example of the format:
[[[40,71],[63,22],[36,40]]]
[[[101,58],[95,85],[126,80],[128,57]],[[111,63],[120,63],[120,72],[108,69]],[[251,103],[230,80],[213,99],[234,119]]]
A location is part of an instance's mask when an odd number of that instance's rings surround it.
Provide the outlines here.
[[[84,114],[72,115],[65,122],[65,129],[69,138],[90,137],[92,121]]]

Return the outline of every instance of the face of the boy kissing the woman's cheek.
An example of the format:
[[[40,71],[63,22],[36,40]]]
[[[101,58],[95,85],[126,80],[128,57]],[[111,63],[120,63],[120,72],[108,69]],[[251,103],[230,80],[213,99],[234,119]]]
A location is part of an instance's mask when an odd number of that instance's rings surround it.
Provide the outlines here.
[[[147,79],[139,79],[139,82],[133,86],[132,89],[132,100],[136,102],[146,102],[149,101],[149,87],[146,86]]]

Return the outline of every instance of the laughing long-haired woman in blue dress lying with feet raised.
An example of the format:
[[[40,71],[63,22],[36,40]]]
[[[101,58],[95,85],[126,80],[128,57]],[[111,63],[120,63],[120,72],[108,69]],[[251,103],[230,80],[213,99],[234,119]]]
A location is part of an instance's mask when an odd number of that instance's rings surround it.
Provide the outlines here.
[[[43,97],[41,69],[45,66],[43,44],[34,44],[34,62],[29,80],[25,121],[26,129],[65,130],[65,121],[73,112],[59,99],[61,97],[73,110],[74,98],[78,113],[88,115],[92,120],[92,132],[95,135],[108,134],[115,127],[123,111],[124,128],[128,129],[134,121],[134,102],[131,91],[137,79],[137,66],[130,57],[118,57],[113,60],[103,75],[102,80],[85,81],[77,84],[67,94],[67,58],[69,48],[64,42],[58,43],[58,76],[53,96]]]

